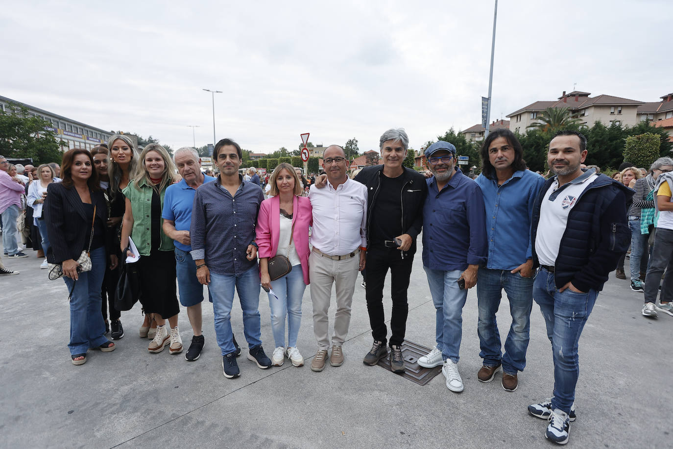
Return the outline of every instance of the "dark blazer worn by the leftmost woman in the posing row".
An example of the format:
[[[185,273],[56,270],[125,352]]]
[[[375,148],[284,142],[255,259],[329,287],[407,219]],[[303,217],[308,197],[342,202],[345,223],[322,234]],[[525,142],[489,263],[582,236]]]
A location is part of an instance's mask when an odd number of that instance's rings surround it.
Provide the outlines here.
[[[49,263],[62,263],[68,259],[77,261],[91,236],[92,216],[87,213],[74,186],[70,188],[62,182],[52,182],[46,189],[44,219],[49,234],[49,249],[46,254]],[[105,225],[108,207],[103,191],[90,191],[92,204],[96,205],[96,217]],[[107,229],[107,226],[102,228]],[[106,232],[106,251],[114,250],[112,233]],[[113,253],[114,254],[114,253]]]

